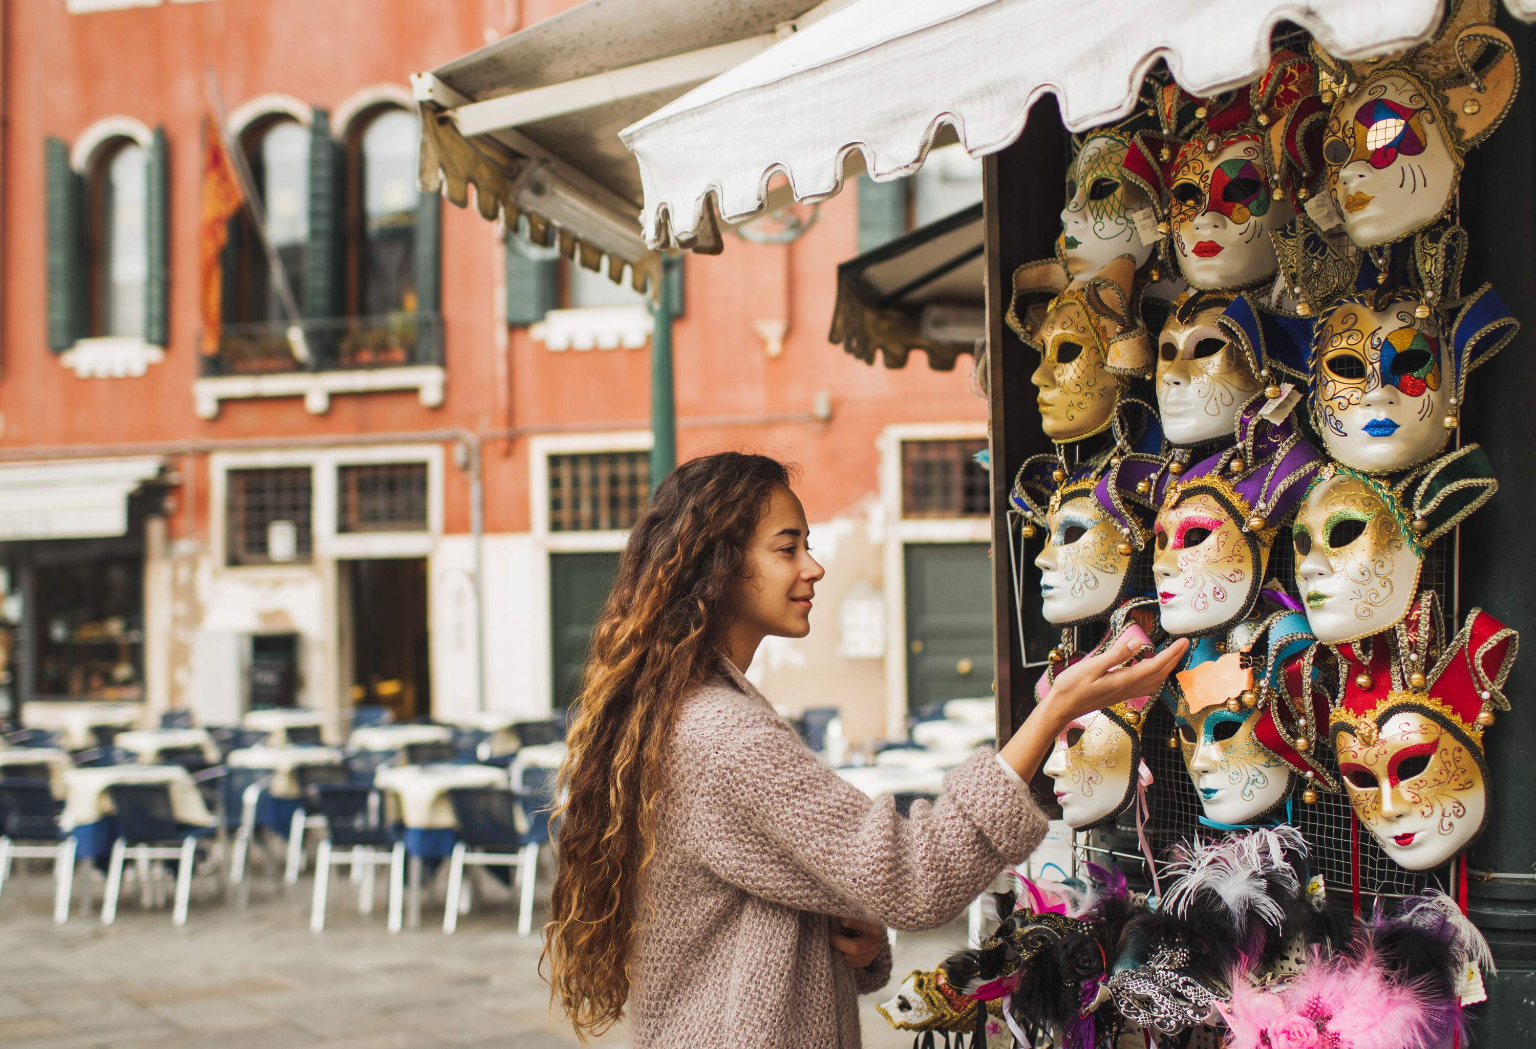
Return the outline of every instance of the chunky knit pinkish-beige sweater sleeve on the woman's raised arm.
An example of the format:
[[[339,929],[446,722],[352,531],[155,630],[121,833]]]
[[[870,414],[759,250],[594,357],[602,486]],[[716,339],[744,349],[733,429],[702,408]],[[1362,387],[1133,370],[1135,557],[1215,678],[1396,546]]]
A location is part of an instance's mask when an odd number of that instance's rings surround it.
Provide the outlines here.
[[[788,726],[742,719],[691,733],[691,834],[700,860],[760,898],[895,929],[954,920],[1044,837],[1046,819],[991,748],[911,816],[822,765]]]

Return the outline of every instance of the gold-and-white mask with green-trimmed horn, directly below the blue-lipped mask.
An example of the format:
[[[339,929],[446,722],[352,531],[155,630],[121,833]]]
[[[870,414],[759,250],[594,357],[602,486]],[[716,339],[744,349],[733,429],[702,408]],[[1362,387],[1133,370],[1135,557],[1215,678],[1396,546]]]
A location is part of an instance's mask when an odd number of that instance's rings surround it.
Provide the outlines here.
[[[1387,485],[1327,464],[1296,511],[1296,590],[1318,640],[1336,645],[1402,620],[1430,544],[1498,490],[1471,444]]]

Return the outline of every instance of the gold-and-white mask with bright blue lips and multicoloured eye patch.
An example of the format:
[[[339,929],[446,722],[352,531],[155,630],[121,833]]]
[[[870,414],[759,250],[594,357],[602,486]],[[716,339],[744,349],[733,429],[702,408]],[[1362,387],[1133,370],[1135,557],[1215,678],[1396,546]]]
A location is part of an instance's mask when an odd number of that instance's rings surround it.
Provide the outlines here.
[[[1455,318],[1416,295],[1346,295],[1318,318],[1312,415],[1344,465],[1393,473],[1438,455],[1465,401],[1467,373],[1518,324],[1487,286]]]

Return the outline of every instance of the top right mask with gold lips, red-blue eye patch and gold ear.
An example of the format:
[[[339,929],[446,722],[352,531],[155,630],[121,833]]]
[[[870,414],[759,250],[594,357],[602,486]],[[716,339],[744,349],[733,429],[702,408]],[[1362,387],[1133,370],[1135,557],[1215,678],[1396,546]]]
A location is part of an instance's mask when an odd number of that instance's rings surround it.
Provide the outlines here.
[[[1322,140],[1327,187],[1355,244],[1401,240],[1448,209],[1462,157],[1493,132],[1519,84],[1513,45],[1491,20],[1491,3],[1471,0],[1395,61],[1318,55],[1336,94]]]

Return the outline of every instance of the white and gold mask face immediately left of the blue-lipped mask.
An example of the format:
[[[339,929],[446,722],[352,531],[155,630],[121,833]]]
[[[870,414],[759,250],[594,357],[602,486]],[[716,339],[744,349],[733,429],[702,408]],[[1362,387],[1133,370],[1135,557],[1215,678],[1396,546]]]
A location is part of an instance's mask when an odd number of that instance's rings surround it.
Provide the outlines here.
[[[1223,304],[1200,309],[1187,321],[1175,310],[1158,338],[1157,407],[1174,444],[1230,439],[1238,412],[1264,386],[1217,323],[1221,315]]]

